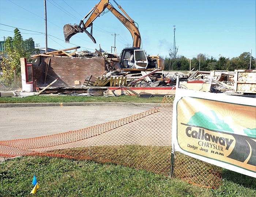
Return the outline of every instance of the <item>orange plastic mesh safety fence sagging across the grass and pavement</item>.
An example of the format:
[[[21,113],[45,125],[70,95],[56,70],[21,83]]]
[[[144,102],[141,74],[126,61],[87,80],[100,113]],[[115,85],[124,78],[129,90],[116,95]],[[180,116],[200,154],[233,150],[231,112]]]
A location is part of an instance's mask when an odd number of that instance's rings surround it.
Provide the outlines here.
[[[168,175],[172,155],[174,96],[161,107],[85,129],[42,137],[0,141],[0,157],[42,155],[114,162]],[[216,188],[219,168],[175,153],[173,174],[195,185]]]

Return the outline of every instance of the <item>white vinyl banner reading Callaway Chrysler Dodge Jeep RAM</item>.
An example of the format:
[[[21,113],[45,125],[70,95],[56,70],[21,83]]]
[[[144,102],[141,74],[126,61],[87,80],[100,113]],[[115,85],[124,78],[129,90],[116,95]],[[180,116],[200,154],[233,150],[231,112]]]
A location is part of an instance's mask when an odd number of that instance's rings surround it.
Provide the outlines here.
[[[176,88],[172,147],[256,178],[256,98]]]

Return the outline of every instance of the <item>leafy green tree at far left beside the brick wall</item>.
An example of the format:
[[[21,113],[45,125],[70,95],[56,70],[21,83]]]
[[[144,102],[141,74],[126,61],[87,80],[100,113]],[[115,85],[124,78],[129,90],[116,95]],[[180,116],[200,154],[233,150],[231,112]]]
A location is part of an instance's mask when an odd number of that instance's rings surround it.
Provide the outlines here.
[[[31,39],[29,39],[31,42]],[[32,39],[33,40],[33,39]],[[21,84],[20,73],[20,58],[29,58],[31,52],[24,46],[24,41],[20,34],[19,29],[14,29],[14,37],[8,37],[5,40],[5,51],[3,52],[3,58],[0,66],[3,71],[3,75],[0,78],[0,82],[4,84],[5,87],[14,88],[17,84],[14,84],[14,71],[16,73],[18,86]]]

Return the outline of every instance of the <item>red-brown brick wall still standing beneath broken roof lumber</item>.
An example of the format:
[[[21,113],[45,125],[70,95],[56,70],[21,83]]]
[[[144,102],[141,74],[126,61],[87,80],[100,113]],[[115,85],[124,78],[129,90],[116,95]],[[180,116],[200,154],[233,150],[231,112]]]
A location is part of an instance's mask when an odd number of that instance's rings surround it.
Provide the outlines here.
[[[84,79],[89,78],[90,75],[98,77],[106,70],[105,61],[102,57],[89,59],[41,57],[41,63],[39,62],[38,66],[33,64],[33,80],[37,80],[37,86],[44,85],[46,63],[49,59],[50,64],[45,84],[49,84],[58,78],[59,80],[53,86],[74,86],[75,80],[83,84]]]

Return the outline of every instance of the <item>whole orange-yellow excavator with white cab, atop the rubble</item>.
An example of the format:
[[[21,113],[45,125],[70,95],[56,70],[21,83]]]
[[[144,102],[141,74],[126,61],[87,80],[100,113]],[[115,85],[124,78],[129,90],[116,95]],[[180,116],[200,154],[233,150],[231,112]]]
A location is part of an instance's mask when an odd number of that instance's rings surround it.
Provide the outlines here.
[[[113,0],[116,4],[117,2]],[[96,43],[93,37],[93,21],[107,8],[121,23],[129,30],[133,39],[133,47],[124,48],[120,54],[119,66],[125,71],[132,70],[154,70],[156,68],[164,69],[164,60],[159,56],[146,56],[144,50],[140,49],[141,38],[139,29],[135,22],[127,15],[127,13],[118,5],[118,8],[124,13],[118,12],[110,3],[109,0],[101,0],[93,9],[80,21],[80,23],[71,25],[66,24],[63,27],[65,42],[69,43],[69,39],[79,32],[85,32],[91,40]],[[90,16],[89,16],[90,15]],[[84,20],[89,18],[84,22]],[[91,27],[90,32],[86,29]]]

